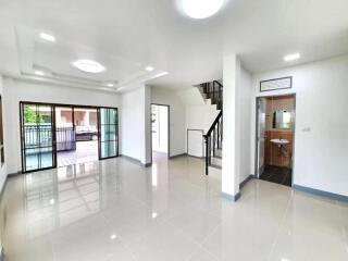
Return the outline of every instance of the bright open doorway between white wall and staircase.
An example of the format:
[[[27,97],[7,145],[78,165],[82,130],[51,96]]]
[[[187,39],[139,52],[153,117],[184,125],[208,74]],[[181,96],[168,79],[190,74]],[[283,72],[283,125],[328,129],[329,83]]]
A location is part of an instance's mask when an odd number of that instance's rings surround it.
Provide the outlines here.
[[[170,156],[170,107],[151,104],[152,159]]]

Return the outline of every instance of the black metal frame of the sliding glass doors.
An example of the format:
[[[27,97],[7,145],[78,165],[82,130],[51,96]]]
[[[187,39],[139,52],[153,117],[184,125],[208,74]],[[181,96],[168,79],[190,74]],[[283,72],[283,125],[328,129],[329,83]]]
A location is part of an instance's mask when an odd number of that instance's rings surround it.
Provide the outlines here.
[[[39,170],[33,170],[33,171],[25,171],[24,170],[24,154],[23,154],[23,149],[24,149],[24,134],[23,134],[23,116],[22,116],[22,104],[39,104],[39,105],[49,105],[49,107],[52,107],[52,126],[53,126],[53,133],[54,135],[52,135],[52,139],[53,139],[53,166],[50,166],[50,167],[45,167],[45,169],[39,169]],[[82,104],[69,104],[69,103],[52,103],[52,102],[36,102],[36,101],[23,101],[21,100],[20,101],[20,139],[21,139],[21,160],[22,160],[22,173],[23,174],[26,174],[26,173],[30,173],[30,172],[38,172],[38,171],[45,171],[45,170],[51,170],[51,169],[57,169],[57,137],[55,137],[55,129],[57,129],[57,123],[55,123],[55,108],[57,107],[65,107],[65,108],[71,108],[72,109],[72,112],[73,112],[73,121],[74,121],[74,109],[75,108],[83,108],[83,109],[96,109],[97,110],[97,129],[98,129],[98,160],[101,161],[101,160],[108,160],[108,159],[112,159],[112,158],[117,158],[120,157],[120,153],[119,153],[119,149],[120,149],[120,116],[119,116],[119,108],[117,107],[99,107],[99,105],[82,105]],[[117,146],[117,149],[116,149],[116,156],[113,156],[113,157],[109,157],[109,158],[100,158],[100,148],[99,148],[99,135],[100,135],[100,130],[99,130],[99,109],[114,109],[116,110],[116,113],[117,113],[117,121],[116,121],[116,130],[117,130],[117,138],[116,138],[116,146]],[[73,122],[73,126],[75,127],[75,122]]]

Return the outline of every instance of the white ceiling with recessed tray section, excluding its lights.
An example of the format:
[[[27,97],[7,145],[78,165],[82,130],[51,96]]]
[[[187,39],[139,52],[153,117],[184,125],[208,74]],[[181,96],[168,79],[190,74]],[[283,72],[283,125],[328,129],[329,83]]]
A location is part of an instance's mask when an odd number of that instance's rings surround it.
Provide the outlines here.
[[[44,67],[50,80],[105,90],[107,80],[184,88],[221,78],[229,53],[254,73],[348,52],[347,0],[226,0],[207,20],[186,17],[178,1],[0,0],[0,72],[35,78]],[[40,40],[39,32],[57,42]],[[291,52],[301,59],[285,63]],[[71,65],[83,58],[107,71],[85,74]]]

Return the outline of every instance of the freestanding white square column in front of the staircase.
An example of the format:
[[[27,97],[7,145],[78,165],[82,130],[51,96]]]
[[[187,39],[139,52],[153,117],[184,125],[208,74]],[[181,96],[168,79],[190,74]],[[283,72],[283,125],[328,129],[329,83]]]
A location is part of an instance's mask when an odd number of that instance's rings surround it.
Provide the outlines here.
[[[240,61],[233,54],[223,59],[223,157],[222,197],[236,201],[239,198],[239,130],[238,94]]]

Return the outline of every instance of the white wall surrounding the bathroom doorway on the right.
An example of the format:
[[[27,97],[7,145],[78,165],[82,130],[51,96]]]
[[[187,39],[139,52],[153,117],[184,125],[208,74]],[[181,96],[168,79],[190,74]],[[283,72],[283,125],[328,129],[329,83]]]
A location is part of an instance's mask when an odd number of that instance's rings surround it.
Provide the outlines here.
[[[296,92],[294,183],[348,196],[348,55],[253,75],[256,97]],[[293,76],[293,89],[260,94],[263,79]],[[254,172],[254,121],[250,169]]]

